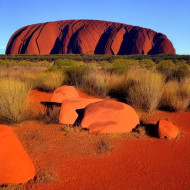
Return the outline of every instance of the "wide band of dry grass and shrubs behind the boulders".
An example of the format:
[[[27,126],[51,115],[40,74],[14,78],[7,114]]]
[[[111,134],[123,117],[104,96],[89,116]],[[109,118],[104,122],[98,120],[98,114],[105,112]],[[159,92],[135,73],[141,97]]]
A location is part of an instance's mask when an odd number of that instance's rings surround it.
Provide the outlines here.
[[[189,56],[11,55],[0,57],[0,118],[19,122],[28,116],[30,90],[52,92],[74,85],[136,109],[185,111],[190,106]],[[29,112],[29,111],[28,111]]]

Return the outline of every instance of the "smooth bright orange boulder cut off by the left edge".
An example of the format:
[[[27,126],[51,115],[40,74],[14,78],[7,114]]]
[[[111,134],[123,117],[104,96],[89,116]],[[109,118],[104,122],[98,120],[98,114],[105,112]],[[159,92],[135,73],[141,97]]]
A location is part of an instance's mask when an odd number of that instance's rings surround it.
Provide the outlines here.
[[[34,165],[13,130],[0,125],[0,184],[26,183],[34,176]]]

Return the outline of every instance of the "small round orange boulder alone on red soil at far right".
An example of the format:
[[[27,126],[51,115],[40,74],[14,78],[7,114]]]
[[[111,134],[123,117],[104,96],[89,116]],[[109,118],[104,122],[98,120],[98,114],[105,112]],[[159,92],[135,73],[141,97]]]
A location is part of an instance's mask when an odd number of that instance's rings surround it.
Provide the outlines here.
[[[158,122],[158,137],[161,139],[175,139],[179,133],[179,129],[167,120]]]

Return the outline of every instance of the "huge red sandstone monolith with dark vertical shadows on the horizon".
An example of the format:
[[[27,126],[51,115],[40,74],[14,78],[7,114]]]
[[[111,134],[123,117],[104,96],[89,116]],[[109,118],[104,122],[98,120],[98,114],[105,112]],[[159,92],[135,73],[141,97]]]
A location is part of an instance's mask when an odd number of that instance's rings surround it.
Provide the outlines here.
[[[10,38],[6,54],[175,54],[162,33],[97,20],[63,20],[25,26]]]

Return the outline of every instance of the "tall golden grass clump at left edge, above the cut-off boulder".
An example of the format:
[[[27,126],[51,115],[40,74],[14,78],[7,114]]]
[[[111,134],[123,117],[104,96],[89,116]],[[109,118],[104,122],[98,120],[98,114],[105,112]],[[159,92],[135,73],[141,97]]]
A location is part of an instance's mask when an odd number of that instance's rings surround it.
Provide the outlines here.
[[[28,104],[26,97],[31,90],[28,83],[0,81],[0,120],[1,122],[20,122],[27,118]]]

